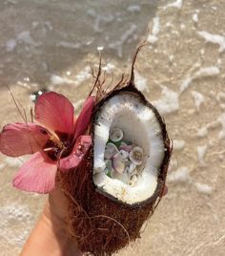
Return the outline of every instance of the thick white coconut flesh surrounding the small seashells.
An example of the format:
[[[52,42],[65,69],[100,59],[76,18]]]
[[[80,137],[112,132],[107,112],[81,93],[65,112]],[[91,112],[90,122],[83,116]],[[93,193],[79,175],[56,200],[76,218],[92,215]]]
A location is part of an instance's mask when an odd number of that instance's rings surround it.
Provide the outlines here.
[[[109,177],[106,172],[109,161],[105,159],[105,151],[111,133],[116,129],[123,132],[123,141],[129,141],[133,147],[138,147],[143,156],[141,164],[139,162],[134,166],[132,174],[113,170]],[[116,131],[116,138],[118,137]],[[106,100],[97,114],[93,134],[93,182],[102,192],[127,204],[142,203],[150,199],[157,187],[158,172],[164,155],[159,121],[139,96],[123,92]],[[126,153],[124,156],[128,159]]]

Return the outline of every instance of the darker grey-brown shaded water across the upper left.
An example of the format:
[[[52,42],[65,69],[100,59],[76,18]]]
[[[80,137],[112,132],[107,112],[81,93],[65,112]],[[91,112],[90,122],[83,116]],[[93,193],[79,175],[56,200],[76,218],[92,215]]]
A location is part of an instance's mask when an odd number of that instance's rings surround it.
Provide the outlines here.
[[[1,1],[0,75],[46,84],[99,46],[105,57],[126,60],[156,7],[157,1]]]

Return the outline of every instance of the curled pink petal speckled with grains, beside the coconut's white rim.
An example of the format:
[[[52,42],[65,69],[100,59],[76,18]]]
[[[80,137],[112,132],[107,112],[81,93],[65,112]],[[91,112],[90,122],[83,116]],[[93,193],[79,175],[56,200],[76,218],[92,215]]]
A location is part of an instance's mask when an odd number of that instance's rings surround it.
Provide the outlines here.
[[[67,158],[60,160],[59,169],[66,172],[70,169],[76,168],[85,158],[91,146],[91,136],[80,136],[78,139],[76,139],[75,145],[72,149],[72,154]]]

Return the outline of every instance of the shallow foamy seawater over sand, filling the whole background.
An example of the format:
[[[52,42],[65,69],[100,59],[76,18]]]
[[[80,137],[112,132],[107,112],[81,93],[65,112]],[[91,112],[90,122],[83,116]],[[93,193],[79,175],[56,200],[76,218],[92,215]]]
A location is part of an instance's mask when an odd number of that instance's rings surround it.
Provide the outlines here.
[[[165,118],[174,153],[168,195],[142,238],[118,255],[224,255],[225,3],[223,0],[0,2],[0,125],[29,117],[31,95],[68,96],[76,113],[103,48],[109,82],[129,73]],[[18,255],[45,196],[12,188],[26,159],[0,155],[0,255]]]

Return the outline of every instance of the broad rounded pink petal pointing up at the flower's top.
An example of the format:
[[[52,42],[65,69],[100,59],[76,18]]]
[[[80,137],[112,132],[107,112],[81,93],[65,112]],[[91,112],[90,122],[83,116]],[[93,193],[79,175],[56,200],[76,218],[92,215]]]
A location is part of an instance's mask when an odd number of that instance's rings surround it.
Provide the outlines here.
[[[53,92],[39,96],[35,104],[35,119],[56,133],[72,135],[73,115],[74,109],[71,101]]]

